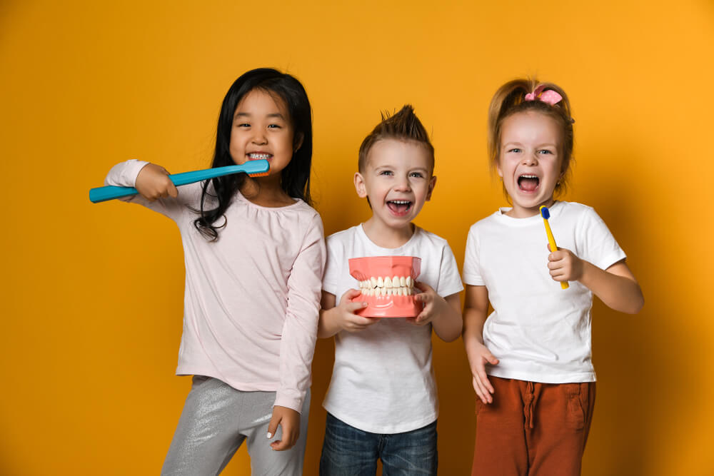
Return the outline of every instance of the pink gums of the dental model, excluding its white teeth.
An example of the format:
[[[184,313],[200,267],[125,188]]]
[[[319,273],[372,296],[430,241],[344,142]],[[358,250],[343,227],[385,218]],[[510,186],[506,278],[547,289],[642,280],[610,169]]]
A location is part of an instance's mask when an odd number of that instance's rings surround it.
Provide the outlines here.
[[[421,258],[416,256],[371,256],[351,258],[350,275],[356,280],[369,281],[373,277],[411,276],[416,281],[421,273]],[[380,278],[382,279],[382,278]],[[397,285],[396,288],[401,286]],[[362,286],[359,286],[362,290]],[[416,290],[416,293],[419,293]],[[361,293],[353,302],[368,303],[366,308],[355,312],[367,318],[416,318],[423,310],[423,304],[411,295],[366,295]]]

